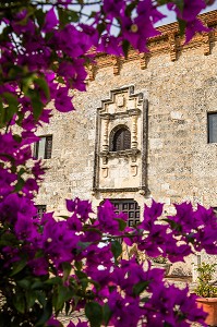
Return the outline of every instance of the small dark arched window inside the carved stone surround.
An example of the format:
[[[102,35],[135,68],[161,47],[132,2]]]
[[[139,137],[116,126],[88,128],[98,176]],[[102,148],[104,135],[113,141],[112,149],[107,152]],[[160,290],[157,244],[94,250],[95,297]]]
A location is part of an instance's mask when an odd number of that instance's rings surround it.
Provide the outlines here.
[[[121,126],[111,131],[110,152],[121,152],[131,148],[131,132],[128,128]]]

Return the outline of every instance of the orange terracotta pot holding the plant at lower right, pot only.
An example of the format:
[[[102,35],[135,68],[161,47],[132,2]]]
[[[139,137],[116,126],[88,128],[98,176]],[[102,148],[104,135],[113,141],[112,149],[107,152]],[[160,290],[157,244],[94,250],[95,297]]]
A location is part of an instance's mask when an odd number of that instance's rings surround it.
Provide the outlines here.
[[[217,298],[198,298],[197,306],[203,307],[208,316],[205,323],[209,326],[217,326]]]

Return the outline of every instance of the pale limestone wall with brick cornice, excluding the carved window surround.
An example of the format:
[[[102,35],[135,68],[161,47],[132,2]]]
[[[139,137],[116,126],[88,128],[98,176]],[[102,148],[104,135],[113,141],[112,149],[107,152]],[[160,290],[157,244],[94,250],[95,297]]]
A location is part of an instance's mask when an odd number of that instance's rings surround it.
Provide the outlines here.
[[[216,26],[217,12],[212,13],[210,22]],[[45,160],[49,170],[37,204],[46,204],[56,215],[65,213],[65,197],[75,196],[93,201],[94,206],[109,197],[134,198],[143,207],[155,198],[166,204],[166,213],[173,210],[172,203],[183,201],[217,207],[217,143],[207,142],[207,112],[217,111],[215,26],[208,36],[197,36],[183,46],[177,25],[171,24],[161,38],[150,41],[147,55],[132,51],[128,60],[99,56],[87,92],[74,94],[76,111],[55,111],[51,124],[38,131],[38,135],[52,134],[53,144],[52,158]],[[143,112],[146,129],[138,130],[138,144],[146,149],[136,178],[138,184],[144,173],[145,189],[94,192],[97,108],[112,89],[130,85],[147,101]],[[144,135],[146,143],[142,143]],[[112,160],[111,166],[124,166],[123,158]],[[114,189],[121,173],[125,174],[121,166],[111,172]],[[132,189],[133,183],[132,179]],[[125,184],[129,189],[129,181]]]

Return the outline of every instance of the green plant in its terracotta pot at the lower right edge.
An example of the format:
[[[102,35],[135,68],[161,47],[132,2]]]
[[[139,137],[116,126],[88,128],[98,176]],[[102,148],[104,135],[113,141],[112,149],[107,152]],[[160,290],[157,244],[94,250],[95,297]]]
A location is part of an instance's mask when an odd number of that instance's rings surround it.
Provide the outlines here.
[[[202,263],[196,269],[198,277],[194,291],[200,296],[196,302],[208,314],[205,323],[209,326],[217,326],[217,287],[216,281],[213,281],[216,265]]]

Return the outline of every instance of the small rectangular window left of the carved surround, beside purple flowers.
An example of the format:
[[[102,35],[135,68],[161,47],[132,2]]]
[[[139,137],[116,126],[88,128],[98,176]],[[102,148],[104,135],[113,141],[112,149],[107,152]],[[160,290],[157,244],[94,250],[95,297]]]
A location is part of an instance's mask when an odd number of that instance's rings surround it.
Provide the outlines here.
[[[50,159],[52,152],[52,135],[40,136],[40,141],[34,145],[34,157],[36,159]]]

